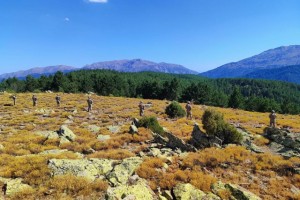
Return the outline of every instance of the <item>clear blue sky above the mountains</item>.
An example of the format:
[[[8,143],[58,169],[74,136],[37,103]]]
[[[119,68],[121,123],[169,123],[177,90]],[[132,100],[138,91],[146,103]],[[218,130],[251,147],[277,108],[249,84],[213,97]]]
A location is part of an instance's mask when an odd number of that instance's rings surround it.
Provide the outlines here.
[[[0,74],[133,58],[203,72],[293,44],[299,0],[0,0]]]

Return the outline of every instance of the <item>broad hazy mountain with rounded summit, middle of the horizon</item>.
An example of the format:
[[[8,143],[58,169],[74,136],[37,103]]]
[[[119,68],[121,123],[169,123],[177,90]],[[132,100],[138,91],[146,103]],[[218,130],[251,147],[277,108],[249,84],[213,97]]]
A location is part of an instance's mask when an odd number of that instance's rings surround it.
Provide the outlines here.
[[[163,72],[171,74],[198,74],[196,71],[183,67],[182,65],[169,63],[155,63],[147,60],[115,60],[107,62],[97,62],[86,65],[82,69],[110,69],[121,72]]]

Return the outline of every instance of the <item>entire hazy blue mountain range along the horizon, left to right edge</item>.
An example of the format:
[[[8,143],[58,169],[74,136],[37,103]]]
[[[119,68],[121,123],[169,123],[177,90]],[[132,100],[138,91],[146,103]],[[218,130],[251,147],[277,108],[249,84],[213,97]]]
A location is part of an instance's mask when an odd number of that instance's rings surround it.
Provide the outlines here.
[[[198,74],[182,65],[155,63],[152,61],[133,59],[96,62],[82,68],[58,65],[38,67],[0,75],[0,80],[9,77],[24,78],[27,75],[35,77],[54,74],[56,71],[70,72],[74,70],[109,69],[120,72],[153,71],[173,74]],[[216,69],[200,73],[209,78],[254,78],[280,80],[300,83],[300,45],[282,46],[264,51],[258,55],[232,62]]]

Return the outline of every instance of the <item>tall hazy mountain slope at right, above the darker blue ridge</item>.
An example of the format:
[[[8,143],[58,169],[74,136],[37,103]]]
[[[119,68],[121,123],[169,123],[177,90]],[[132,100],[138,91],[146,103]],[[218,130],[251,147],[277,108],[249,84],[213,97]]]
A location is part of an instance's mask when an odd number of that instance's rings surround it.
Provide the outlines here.
[[[222,65],[216,69],[201,73],[209,78],[248,77],[262,69],[275,69],[284,66],[300,65],[300,45],[282,46],[261,54]]]

